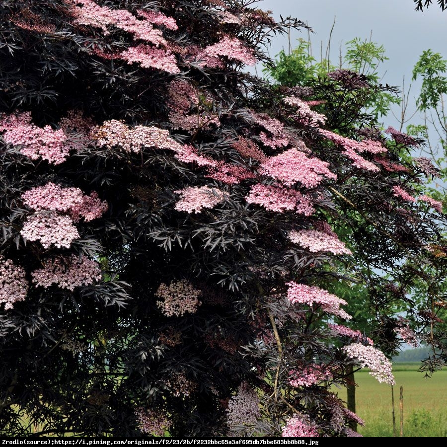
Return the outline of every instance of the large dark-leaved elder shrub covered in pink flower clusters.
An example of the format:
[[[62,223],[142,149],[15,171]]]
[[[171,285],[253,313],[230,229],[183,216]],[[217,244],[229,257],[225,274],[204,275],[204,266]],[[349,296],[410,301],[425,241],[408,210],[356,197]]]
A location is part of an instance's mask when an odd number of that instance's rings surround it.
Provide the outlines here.
[[[350,365],[392,383],[389,309],[428,264],[445,281],[439,203],[409,199],[422,171],[398,164],[414,139],[335,132],[366,126],[374,87],[247,74],[304,26],[252,1],[0,14],[1,432],[355,435],[331,387]],[[360,260],[374,347],[329,292]],[[443,350],[433,306],[419,335]]]

